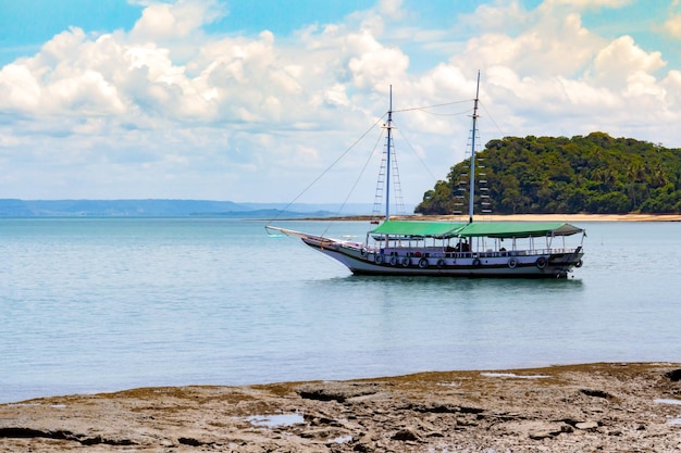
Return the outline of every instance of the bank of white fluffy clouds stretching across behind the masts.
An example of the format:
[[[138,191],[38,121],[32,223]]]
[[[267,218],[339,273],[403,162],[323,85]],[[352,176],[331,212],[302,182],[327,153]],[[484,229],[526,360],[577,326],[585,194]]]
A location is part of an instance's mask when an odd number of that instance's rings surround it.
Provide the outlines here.
[[[149,1],[129,32],[73,27],[0,70],[0,190],[289,201],[386,110],[389,85],[397,109],[470,99],[478,68],[483,121],[493,119],[483,141],[598,129],[679,146],[679,68],[630,36],[607,40],[582,24],[584,8],[623,3],[483,4],[457,24],[472,29],[470,38],[418,30],[437,37],[434,46],[409,40],[418,27],[399,1],[287,37],[209,35],[203,27],[227,14],[218,1]],[[674,17],[666,28],[676,33]],[[423,55],[414,46],[423,54],[451,50],[416,71],[411,59]],[[419,159],[442,167],[439,177],[463,158],[466,116],[396,121]],[[432,186],[411,183],[409,202]],[[310,201],[344,198],[337,187],[317,196]]]

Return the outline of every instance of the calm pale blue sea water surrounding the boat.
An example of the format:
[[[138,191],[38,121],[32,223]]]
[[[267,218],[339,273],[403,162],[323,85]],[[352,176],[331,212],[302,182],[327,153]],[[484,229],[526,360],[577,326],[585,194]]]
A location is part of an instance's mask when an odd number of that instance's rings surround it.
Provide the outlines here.
[[[0,219],[0,402],[681,361],[681,224],[580,225],[584,266],[535,281],[354,277],[261,222]]]

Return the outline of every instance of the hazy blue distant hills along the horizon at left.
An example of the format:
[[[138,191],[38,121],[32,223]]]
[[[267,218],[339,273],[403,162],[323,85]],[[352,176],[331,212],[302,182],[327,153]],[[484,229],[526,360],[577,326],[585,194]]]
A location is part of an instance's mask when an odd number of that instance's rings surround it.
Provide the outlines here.
[[[371,205],[354,204],[344,215],[371,213]],[[286,211],[283,211],[286,210]],[[17,200],[0,199],[5,217],[185,217],[228,216],[235,218],[329,217],[338,215],[334,204],[234,203],[210,200]]]

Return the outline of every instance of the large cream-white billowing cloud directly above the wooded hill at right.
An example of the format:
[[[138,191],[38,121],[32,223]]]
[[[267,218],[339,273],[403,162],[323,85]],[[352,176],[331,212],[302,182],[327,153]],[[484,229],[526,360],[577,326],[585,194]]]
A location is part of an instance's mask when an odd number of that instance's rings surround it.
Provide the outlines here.
[[[667,62],[658,51],[644,51],[631,36],[606,40],[581,21],[583,9],[626,4],[552,0],[533,11],[515,2],[480,7],[478,21],[492,23],[493,32],[469,39],[451,64],[465,67],[472,62],[483,68],[483,90],[512,135],[571,136],[599,129],[653,139],[658,130],[646,136],[642,112],[664,111],[666,121],[679,116],[672,109],[676,95],[658,76]],[[522,29],[503,33],[504,21],[517,21]],[[632,124],[639,124],[635,130]]]

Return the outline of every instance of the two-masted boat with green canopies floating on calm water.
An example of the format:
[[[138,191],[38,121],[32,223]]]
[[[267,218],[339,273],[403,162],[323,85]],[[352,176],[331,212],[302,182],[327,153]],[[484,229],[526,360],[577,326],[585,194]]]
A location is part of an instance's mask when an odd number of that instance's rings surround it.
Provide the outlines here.
[[[392,90],[391,90],[392,91]],[[566,278],[583,263],[585,230],[561,222],[479,222],[473,218],[475,136],[480,73],[473,100],[468,222],[385,217],[363,241],[334,239],[268,225],[298,237],[312,249],[344,264],[355,275]],[[385,128],[387,159],[393,129],[392,92]],[[389,185],[388,176],[385,179]],[[387,187],[386,193],[389,193]],[[388,196],[386,196],[386,199]]]

